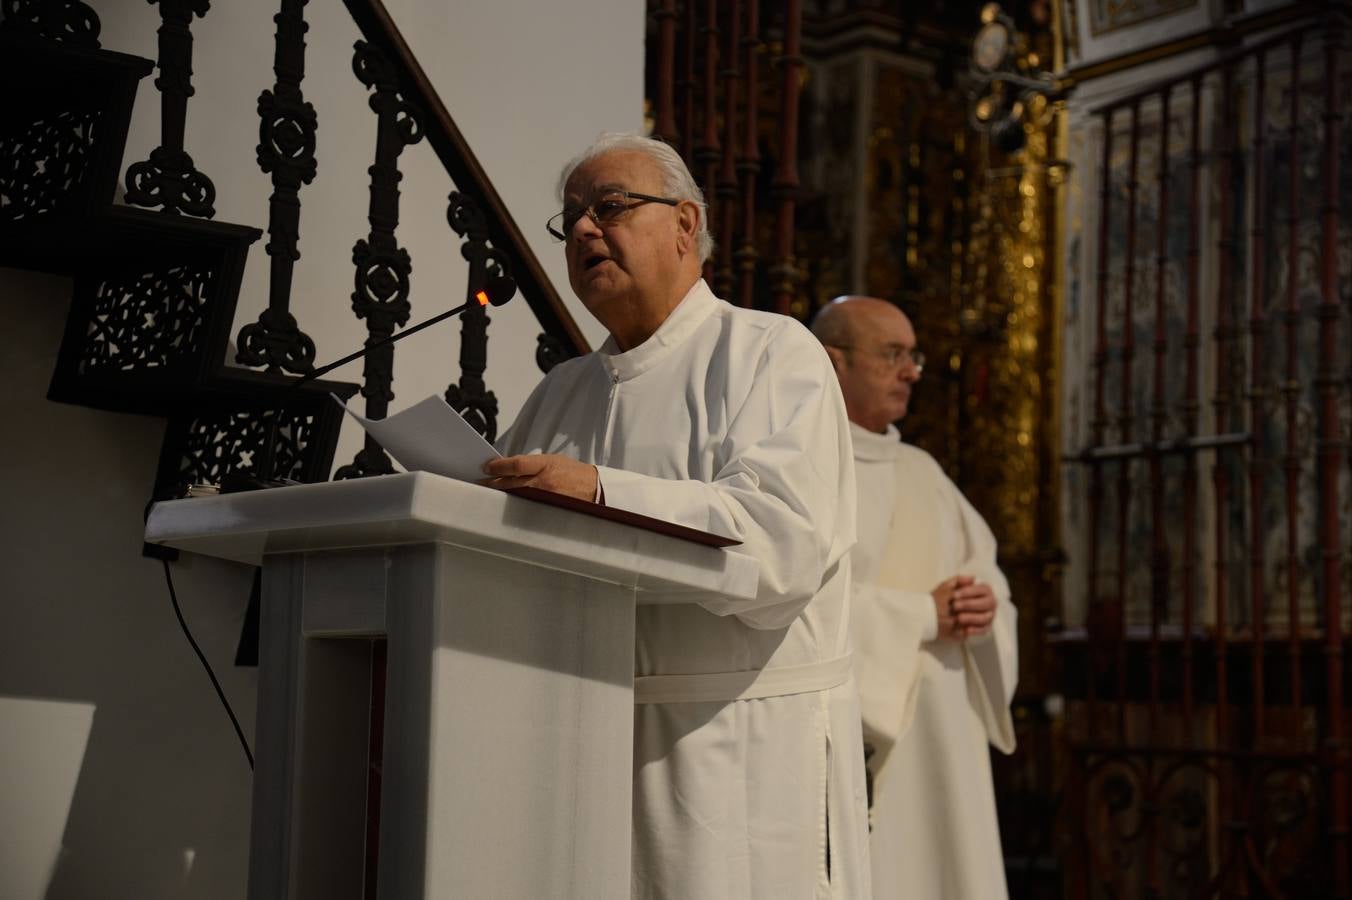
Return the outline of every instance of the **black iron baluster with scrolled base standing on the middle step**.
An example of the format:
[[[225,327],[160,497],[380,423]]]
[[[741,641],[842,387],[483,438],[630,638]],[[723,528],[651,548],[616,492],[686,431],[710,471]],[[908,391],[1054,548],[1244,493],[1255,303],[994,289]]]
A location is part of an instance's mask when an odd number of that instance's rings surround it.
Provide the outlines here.
[[[160,5],[160,146],[127,169],[127,203],[164,207],[210,219],[216,188],[183,149],[192,88],[192,16],[207,15],[211,0],[147,0]]]

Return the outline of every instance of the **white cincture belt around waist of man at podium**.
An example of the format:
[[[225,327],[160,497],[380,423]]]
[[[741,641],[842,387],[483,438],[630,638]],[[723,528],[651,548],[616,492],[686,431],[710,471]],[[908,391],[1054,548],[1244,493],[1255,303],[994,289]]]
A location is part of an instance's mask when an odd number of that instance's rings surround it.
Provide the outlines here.
[[[688,676],[638,676],[634,703],[706,703],[711,700],[761,700],[791,693],[830,691],[849,678],[850,654],[800,666],[708,672]]]

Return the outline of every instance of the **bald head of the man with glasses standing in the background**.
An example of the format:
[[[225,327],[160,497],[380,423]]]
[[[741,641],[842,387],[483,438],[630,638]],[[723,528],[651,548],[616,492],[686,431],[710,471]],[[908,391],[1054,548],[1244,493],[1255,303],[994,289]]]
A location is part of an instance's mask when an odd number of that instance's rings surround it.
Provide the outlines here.
[[[831,358],[850,422],[883,432],[906,416],[921,369],[904,312],[877,297],[836,297],[817,314],[813,334]]]

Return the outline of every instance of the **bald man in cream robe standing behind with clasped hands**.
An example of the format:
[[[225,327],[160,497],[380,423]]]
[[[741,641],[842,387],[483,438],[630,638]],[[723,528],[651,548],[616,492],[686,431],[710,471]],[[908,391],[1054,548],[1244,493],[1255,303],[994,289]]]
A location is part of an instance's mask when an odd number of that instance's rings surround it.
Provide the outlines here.
[[[987,743],[1014,751],[1017,615],[995,538],[938,464],[902,443],[923,357],[910,319],[840,297],[813,331],[854,442],[853,630],[879,900],[1007,896]]]

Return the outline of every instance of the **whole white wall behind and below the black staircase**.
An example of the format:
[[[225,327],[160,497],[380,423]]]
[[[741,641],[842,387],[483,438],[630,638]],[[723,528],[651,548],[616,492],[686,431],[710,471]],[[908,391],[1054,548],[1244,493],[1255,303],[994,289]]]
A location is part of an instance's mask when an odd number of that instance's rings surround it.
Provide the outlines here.
[[[91,5],[103,19],[103,46],[154,57],[155,7]],[[544,222],[556,211],[562,162],[602,130],[641,124],[642,4],[388,5],[584,334],[599,343],[602,331],[568,291]],[[215,181],[222,222],[266,224],[270,182],[254,162],[254,104],[273,82],[276,8],[264,0],[216,3],[193,24],[197,95],[187,149]],[[319,177],[301,189],[303,258],[292,309],[319,345],[318,362],[326,362],[365,338],[350,311],[350,251],[368,227],[375,118],[352,74],[358,34],[346,12],[311,3],[307,20],[304,91],[319,112]],[[142,82],[123,169],[158,142],[150,81]],[[411,147],[404,164],[399,239],[412,255],[412,320],[419,320],[458,303],[465,264],[445,220],[452,184],[431,149]],[[266,305],[265,241],[250,255],[235,332]],[[0,441],[0,700],[7,700],[0,769],[20,773],[0,782],[0,843],[32,832],[35,815],[54,823],[22,857],[0,854],[0,897],[238,899],[246,881],[247,765],[177,630],[160,564],[139,553],[164,422],[46,400],[69,297],[68,280],[0,270],[0,416],[22,423]],[[506,426],[539,378],[539,328],[519,299],[492,318],[487,380]],[[454,380],[458,326],[448,324],[400,346],[393,409]],[[360,381],[360,365],[337,377]],[[345,432],[337,462],[358,446],[360,438]],[[191,557],[173,569],[184,614],[251,741],[256,673],[231,665],[251,572]],[[91,707],[85,742],[74,719]],[[34,788],[38,778],[51,786]]]

